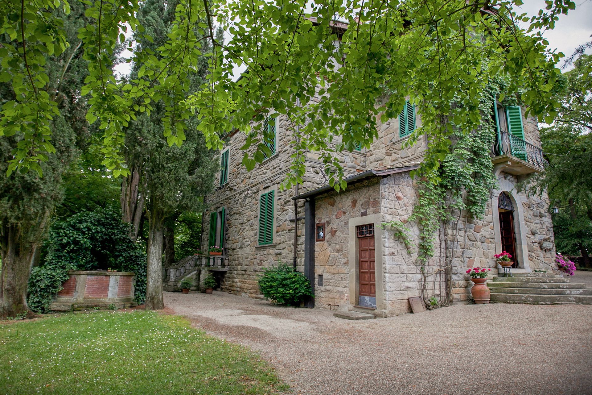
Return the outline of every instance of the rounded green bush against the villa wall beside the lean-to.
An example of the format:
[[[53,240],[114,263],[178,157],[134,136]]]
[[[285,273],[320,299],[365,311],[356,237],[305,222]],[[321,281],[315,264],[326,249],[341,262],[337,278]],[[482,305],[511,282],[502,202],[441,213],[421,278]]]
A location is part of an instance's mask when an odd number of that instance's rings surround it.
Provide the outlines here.
[[[298,306],[305,297],[314,297],[308,278],[282,263],[263,271],[259,277],[259,290],[274,303],[288,306]]]

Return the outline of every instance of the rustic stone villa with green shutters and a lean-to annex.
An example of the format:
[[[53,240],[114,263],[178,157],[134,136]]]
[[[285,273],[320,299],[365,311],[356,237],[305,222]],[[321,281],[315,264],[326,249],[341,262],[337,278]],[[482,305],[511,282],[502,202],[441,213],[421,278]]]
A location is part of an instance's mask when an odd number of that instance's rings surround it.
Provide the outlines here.
[[[491,149],[497,188],[483,220],[469,219],[459,230],[445,225],[437,232],[436,255],[427,263],[425,282],[417,254],[381,227],[391,220],[406,223],[417,201],[410,171],[421,162],[426,141],[418,139],[411,148],[403,148],[403,143],[421,124],[421,108],[407,102],[400,118],[379,126],[379,138],[370,149],[341,154],[348,188],[340,193],[329,187],[314,152],[305,154],[304,184],[279,188],[294,152],[287,117],[265,121],[275,132],[269,144],[272,155],[250,172],[241,165],[245,137],[234,134],[220,155],[217,189],[207,196],[202,245],[224,248],[224,258],[216,258],[218,263],[208,270],[216,274],[221,291],[256,297],[262,268],[294,264],[314,288],[308,307],[384,317],[409,311],[408,298],[422,296],[422,287],[430,296],[445,289],[453,301],[467,300],[471,281],[466,269],[501,271],[493,256],[501,251],[515,257],[514,273],[556,267],[548,200],[516,189],[517,182],[546,164],[538,124],[525,118],[523,110],[497,104],[497,141]],[[411,221],[407,226],[417,242],[419,229]],[[445,281],[437,268],[447,256],[452,257],[452,280],[436,287]],[[168,280],[173,284],[179,276],[169,275]]]

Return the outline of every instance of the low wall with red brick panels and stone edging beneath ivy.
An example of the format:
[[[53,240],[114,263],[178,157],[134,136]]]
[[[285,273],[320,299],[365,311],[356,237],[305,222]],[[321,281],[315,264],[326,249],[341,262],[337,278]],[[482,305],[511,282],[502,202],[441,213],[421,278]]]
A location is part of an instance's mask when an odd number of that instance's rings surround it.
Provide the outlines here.
[[[135,304],[132,272],[70,270],[68,274],[70,278],[57,293],[50,306],[52,310],[79,310],[111,304],[121,309]]]

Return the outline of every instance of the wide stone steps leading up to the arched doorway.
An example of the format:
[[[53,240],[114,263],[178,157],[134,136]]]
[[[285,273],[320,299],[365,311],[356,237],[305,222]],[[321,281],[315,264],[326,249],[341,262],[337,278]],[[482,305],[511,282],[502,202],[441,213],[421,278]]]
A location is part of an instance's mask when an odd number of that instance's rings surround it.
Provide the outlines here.
[[[553,273],[513,273],[487,282],[491,303],[592,304],[592,288]]]

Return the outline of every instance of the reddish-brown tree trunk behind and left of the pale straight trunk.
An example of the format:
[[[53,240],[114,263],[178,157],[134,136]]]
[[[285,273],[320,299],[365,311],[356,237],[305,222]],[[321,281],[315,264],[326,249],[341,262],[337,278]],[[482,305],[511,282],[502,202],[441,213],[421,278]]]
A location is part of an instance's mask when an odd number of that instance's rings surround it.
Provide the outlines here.
[[[144,210],[144,194],[140,193],[141,174],[136,166],[130,175],[121,182],[121,219],[131,224],[130,238],[136,241],[140,230],[140,220]]]

